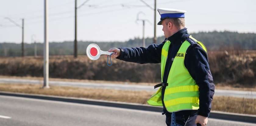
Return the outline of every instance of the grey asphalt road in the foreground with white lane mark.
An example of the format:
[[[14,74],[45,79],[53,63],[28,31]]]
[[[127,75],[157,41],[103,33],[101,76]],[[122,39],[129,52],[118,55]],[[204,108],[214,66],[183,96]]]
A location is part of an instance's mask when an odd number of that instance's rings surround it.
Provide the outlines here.
[[[1,126],[165,126],[159,112],[0,96]],[[210,118],[208,126],[256,124]]]

